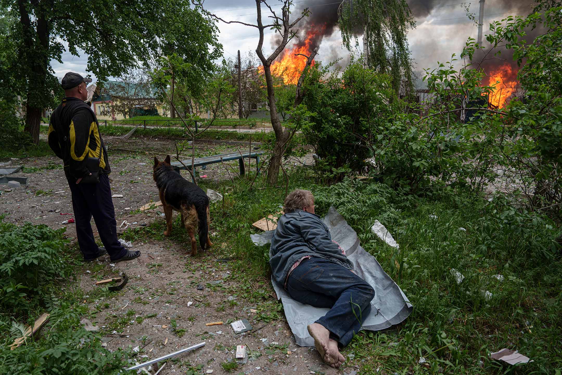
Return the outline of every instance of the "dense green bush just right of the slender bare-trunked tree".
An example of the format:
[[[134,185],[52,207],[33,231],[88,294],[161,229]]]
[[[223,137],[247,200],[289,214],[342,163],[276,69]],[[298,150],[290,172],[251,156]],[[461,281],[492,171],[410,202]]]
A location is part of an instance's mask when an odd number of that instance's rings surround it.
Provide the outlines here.
[[[321,169],[341,180],[373,155],[372,138],[387,126],[400,101],[387,75],[352,63],[341,76],[335,71],[325,79],[328,67],[316,65],[306,78],[303,104],[312,114],[302,133],[320,157]]]

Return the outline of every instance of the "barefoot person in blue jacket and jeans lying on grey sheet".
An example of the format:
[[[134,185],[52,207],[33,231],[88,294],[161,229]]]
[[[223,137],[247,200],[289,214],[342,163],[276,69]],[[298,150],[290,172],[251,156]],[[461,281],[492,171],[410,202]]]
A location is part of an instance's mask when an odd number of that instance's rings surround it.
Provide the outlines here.
[[[271,239],[271,272],[289,295],[303,304],[330,308],[308,326],[324,362],[339,367],[353,333],[371,311],[373,288],[353,273],[345,251],[314,214],[314,196],[295,190],[285,198],[284,215]]]

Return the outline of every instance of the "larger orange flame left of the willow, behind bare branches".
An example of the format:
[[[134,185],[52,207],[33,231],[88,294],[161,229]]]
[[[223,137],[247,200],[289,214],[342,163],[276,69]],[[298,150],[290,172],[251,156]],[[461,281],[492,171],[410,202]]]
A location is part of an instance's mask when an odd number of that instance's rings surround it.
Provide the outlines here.
[[[325,28],[326,26],[323,25],[316,28],[316,30],[310,30],[302,46],[294,46],[291,51],[284,53],[281,60],[276,60],[273,64],[271,64],[271,74],[283,77],[283,82],[285,84],[296,85],[302,71],[305,70],[306,67],[305,56],[310,56],[310,52],[312,51],[312,40],[317,35],[323,35]],[[305,56],[295,56],[298,53]],[[315,61],[312,60],[311,65],[314,66],[314,64]],[[260,73],[263,73],[264,67],[260,66],[259,71]]]

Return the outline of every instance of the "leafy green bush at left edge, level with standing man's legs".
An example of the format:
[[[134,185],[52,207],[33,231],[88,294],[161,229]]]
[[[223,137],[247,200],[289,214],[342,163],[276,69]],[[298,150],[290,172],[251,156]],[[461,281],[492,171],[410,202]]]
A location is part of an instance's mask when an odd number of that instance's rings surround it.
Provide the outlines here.
[[[52,284],[71,274],[64,228],[0,221],[0,311],[26,315],[49,301]]]

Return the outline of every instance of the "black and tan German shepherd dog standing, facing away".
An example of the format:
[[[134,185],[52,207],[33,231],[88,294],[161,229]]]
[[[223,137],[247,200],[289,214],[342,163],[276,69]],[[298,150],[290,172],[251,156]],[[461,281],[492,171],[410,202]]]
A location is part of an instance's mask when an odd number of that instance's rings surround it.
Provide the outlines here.
[[[191,237],[191,255],[197,255],[195,228],[198,226],[199,243],[201,249],[211,247],[209,238],[209,197],[196,184],[184,179],[179,168],[170,165],[170,155],[158,161],[154,157],[154,171],[152,177],[160,192],[160,201],[166,215],[166,232],[170,236],[172,231],[172,210],[182,214],[182,223]],[[198,225],[197,225],[198,224]]]

